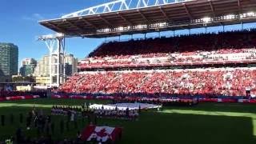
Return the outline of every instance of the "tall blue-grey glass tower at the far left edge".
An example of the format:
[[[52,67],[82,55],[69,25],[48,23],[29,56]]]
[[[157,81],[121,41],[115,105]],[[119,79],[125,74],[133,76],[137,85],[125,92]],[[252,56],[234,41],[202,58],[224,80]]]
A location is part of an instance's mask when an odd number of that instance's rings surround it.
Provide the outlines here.
[[[10,82],[18,74],[18,46],[0,43],[0,82]]]

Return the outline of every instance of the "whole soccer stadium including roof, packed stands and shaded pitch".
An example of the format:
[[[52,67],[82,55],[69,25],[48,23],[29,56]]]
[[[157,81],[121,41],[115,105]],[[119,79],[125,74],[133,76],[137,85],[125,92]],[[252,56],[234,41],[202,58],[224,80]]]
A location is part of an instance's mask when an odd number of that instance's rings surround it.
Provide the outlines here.
[[[252,22],[254,0],[116,0],[40,21],[59,49],[65,38],[119,39],[50,92],[2,90],[0,143],[256,143]]]

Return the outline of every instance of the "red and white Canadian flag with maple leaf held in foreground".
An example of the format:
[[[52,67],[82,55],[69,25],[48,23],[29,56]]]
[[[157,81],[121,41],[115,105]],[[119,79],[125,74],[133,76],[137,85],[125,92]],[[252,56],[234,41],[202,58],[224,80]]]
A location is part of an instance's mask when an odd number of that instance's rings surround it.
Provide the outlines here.
[[[121,128],[110,126],[87,126],[82,133],[82,140],[91,141],[96,138],[98,142],[106,142],[109,138],[115,141],[122,133]]]

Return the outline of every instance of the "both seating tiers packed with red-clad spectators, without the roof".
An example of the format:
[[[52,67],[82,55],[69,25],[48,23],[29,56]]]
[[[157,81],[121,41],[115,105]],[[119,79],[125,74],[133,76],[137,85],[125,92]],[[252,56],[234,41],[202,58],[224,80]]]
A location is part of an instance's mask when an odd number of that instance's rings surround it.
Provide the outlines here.
[[[243,30],[104,43],[59,90],[69,94],[254,96],[255,33]]]

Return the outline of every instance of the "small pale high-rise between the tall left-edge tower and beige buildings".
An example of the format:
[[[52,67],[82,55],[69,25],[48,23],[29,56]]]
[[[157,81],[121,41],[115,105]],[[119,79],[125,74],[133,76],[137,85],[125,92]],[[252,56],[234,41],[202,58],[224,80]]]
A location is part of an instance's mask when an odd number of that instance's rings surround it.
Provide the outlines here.
[[[34,74],[35,66],[37,66],[37,61],[34,58],[25,58],[22,60],[22,67],[19,69],[19,73],[22,77],[31,76]]]

